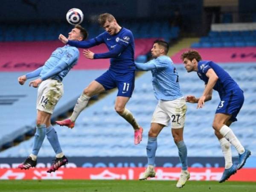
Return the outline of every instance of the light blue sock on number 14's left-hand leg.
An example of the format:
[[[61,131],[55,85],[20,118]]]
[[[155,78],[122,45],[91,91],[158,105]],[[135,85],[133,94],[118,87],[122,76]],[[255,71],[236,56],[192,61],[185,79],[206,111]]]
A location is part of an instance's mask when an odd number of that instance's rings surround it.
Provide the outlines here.
[[[32,154],[38,155],[38,152],[44,142],[44,137],[46,135],[46,125],[37,125],[35,131],[35,139],[32,148]]]

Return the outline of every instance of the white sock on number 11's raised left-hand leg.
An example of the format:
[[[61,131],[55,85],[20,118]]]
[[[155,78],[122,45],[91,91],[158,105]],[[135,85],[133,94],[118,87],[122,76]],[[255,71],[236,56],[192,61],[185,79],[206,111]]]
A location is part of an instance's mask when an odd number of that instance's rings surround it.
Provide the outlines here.
[[[75,122],[81,111],[87,106],[90,97],[85,95],[84,93],[77,99],[77,103],[74,107],[73,113],[70,116],[70,120]]]

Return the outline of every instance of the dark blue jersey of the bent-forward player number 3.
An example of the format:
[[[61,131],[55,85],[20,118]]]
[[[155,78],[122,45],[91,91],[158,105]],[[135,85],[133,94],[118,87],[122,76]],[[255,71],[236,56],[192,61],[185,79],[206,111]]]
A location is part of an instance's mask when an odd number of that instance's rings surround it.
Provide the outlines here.
[[[240,89],[236,81],[234,81],[232,77],[218,64],[215,64],[212,61],[199,61],[197,74],[199,78],[205,82],[205,84],[207,84],[209,80],[209,78],[206,76],[209,69],[214,70],[218,76],[218,80],[213,89],[218,91],[220,98],[232,90]]]

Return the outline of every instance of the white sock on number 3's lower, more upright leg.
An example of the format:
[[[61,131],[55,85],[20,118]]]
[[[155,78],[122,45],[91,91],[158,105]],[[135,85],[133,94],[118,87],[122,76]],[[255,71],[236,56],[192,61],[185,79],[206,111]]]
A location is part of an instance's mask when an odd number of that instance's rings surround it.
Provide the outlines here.
[[[221,143],[221,149],[225,159],[225,169],[229,169],[233,165],[232,153],[230,148],[231,144],[228,142],[228,140],[225,137],[221,138],[219,142]]]

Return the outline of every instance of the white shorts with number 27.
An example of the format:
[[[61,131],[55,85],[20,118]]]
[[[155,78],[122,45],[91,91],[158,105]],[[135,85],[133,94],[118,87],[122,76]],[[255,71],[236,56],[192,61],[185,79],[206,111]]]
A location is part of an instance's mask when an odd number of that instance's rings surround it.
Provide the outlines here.
[[[159,100],[152,116],[151,123],[159,123],[165,126],[179,129],[184,127],[186,115],[186,100],[182,97],[172,101]]]

